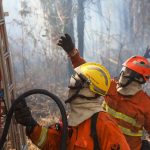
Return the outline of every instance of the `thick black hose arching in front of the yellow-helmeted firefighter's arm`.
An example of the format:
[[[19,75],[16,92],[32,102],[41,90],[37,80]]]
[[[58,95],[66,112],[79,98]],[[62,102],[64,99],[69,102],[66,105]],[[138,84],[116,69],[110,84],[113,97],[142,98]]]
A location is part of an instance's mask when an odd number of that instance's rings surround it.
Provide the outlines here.
[[[66,142],[67,142],[67,136],[68,136],[68,122],[67,122],[67,115],[66,115],[66,111],[65,108],[61,102],[61,100],[54,94],[48,92],[47,90],[44,89],[33,89],[33,90],[29,90],[23,94],[21,94],[12,104],[11,108],[8,111],[8,114],[6,116],[6,122],[5,122],[5,126],[4,126],[4,130],[3,130],[3,134],[1,136],[1,140],[0,140],[0,150],[2,150],[3,145],[6,141],[6,137],[8,134],[8,130],[9,130],[9,126],[11,123],[11,118],[13,116],[13,112],[14,112],[14,108],[15,105],[17,105],[19,102],[21,102],[22,99],[25,99],[26,97],[33,95],[33,94],[43,94],[46,95],[50,98],[52,98],[56,104],[58,105],[60,112],[61,112],[61,116],[62,116],[62,123],[63,123],[63,130],[62,130],[62,140],[61,140],[61,145],[60,145],[60,149],[61,150],[66,150]]]

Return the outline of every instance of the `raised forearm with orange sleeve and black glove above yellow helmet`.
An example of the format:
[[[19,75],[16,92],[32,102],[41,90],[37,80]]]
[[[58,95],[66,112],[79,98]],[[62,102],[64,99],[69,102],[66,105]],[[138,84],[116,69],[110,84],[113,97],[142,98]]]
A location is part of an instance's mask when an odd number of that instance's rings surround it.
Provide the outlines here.
[[[64,36],[61,36],[57,45],[61,46],[68,54],[74,68],[86,62],[75,48],[75,44],[72,42],[70,35],[65,34]]]

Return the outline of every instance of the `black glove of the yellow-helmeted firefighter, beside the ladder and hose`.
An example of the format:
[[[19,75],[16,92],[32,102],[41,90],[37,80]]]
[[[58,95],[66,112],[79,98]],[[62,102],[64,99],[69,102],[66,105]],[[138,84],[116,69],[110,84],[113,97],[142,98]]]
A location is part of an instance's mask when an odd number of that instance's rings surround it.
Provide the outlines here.
[[[37,125],[37,122],[33,119],[31,111],[27,106],[25,100],[22,100],[15,106],[14,113],[16,121],[21,125],[29,128]]]

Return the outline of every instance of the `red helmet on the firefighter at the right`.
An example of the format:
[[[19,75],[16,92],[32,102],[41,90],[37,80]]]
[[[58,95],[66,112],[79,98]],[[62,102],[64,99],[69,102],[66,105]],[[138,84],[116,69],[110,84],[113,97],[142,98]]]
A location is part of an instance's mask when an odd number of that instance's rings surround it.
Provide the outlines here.
[[[150,62],[145,57],[132,56],[122,65],[142,75],[145,81],[149,80]]]

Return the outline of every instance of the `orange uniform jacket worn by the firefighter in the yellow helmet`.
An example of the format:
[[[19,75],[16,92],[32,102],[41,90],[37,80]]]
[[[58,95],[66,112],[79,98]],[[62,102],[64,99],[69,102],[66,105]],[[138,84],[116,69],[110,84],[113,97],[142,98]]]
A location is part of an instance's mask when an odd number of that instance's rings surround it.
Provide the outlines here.
[[[67,141],[68,150],[93,150],[90,126],[91,119],[87,119],[77,127],[71,127],[72,134],[69,134]],[[116,122],[106,112],[99,113],[96,130],[101,150],[130,150]],[[35,145],[43,150],[60,149],[61,130],[55,128],[46,130],[41,126],[36,126],[28,136]]]

